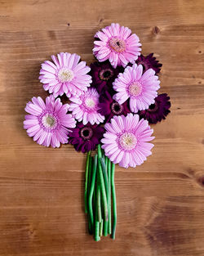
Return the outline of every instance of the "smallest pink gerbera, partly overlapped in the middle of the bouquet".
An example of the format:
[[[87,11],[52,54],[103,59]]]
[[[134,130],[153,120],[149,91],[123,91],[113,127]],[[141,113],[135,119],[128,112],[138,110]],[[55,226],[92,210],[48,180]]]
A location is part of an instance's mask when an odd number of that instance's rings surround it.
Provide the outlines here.
[[[71,97],[69,111],[72,111],[73,116],[79,122],[85,125],[88,122],[91,124],[100,124],[104,122],[104,115],[98,113],[99,93],[95,88],[88,88],[80,97]]]

